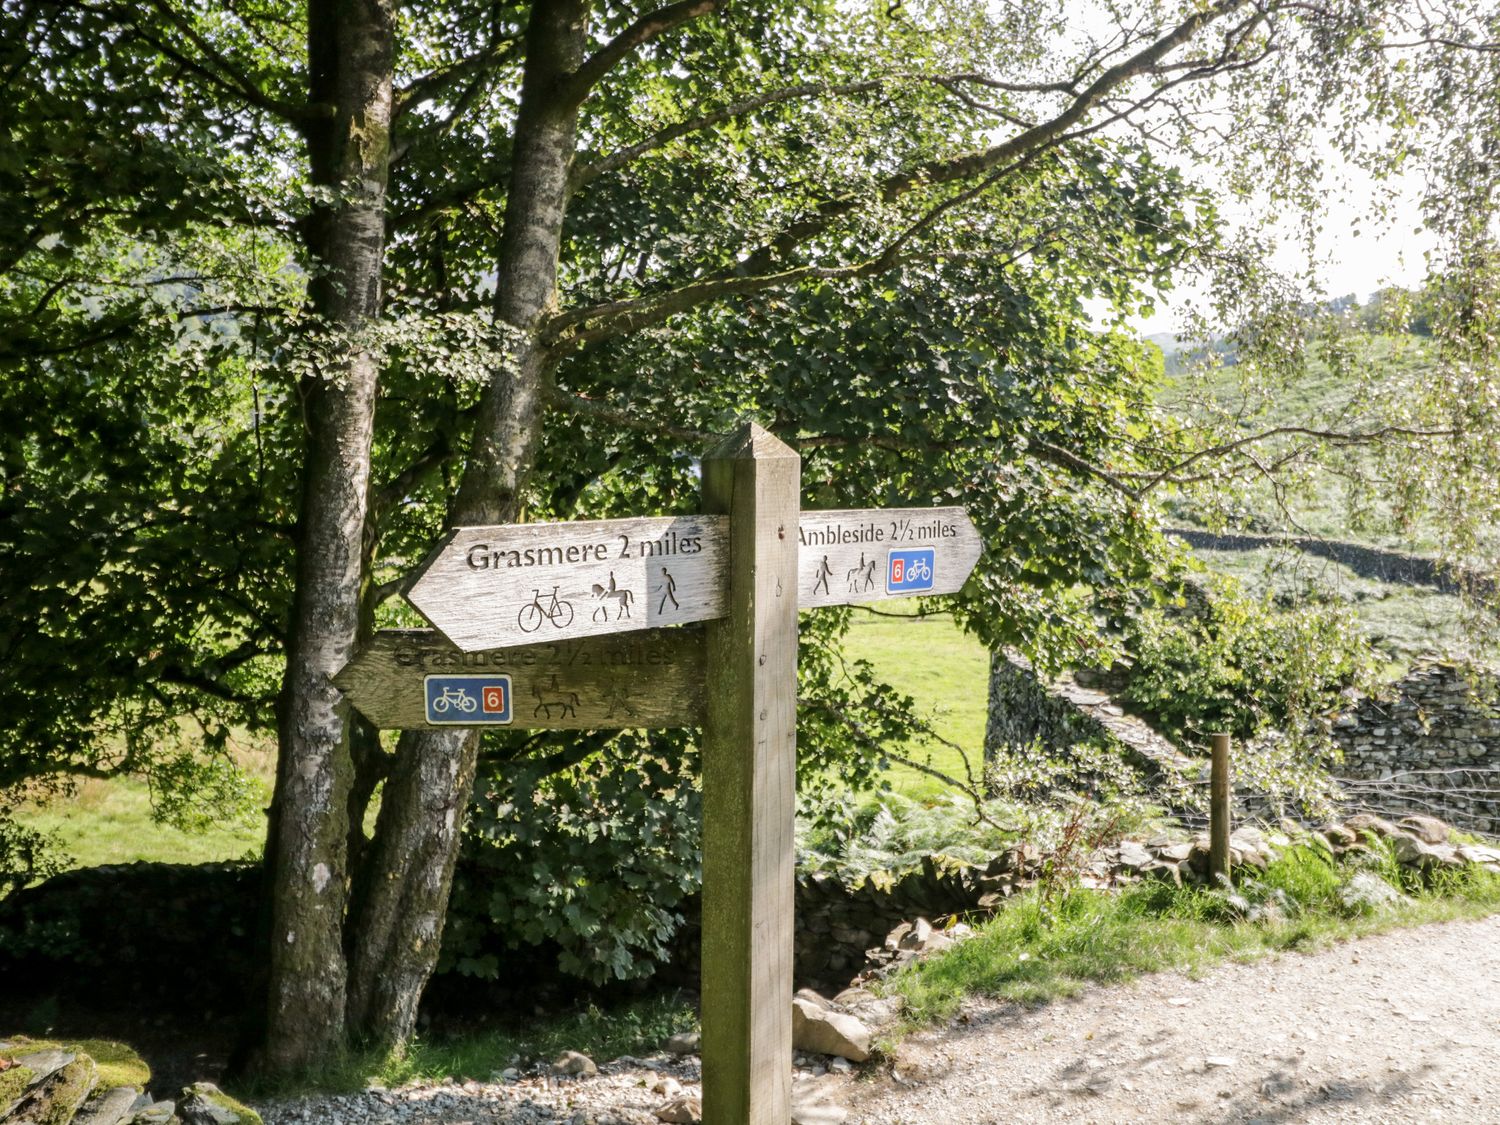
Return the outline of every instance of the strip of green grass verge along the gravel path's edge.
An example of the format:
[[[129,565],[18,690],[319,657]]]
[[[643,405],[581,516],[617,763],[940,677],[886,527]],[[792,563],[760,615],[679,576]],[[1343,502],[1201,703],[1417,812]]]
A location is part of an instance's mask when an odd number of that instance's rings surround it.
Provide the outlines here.
[[[1388,856],[1376,867],[1390,878]],[[1242,888],[1251,898],[1287,903],[1281,916],[1260,922],[1226,921],[1224,896],[1203,888],[1140,884],[1113,894],[1076,890],[1050,902],[1030,891],[969,940],[886,982],[906,1005],[896,1036],[952,1017],[966,996],[1042,1004],[1149,972],[1192,974],[1224,958],[1317,950],[1398,926],[1500,910],[1500,876],[1472,870],[1384,910],[1356,912],[1338,900],[1341,870],[1311,849],[1288,849]]]

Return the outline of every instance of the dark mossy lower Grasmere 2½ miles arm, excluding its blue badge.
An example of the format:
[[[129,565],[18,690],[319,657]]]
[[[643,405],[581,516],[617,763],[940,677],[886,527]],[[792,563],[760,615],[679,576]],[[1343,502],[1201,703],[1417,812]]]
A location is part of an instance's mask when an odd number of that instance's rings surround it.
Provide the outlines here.
[[[502,672],[510,726],[544,730],[700,726],[704,627],[464,652],[430,628],[387,628],[333,676],[381,730],[428,729],[428,675]]]

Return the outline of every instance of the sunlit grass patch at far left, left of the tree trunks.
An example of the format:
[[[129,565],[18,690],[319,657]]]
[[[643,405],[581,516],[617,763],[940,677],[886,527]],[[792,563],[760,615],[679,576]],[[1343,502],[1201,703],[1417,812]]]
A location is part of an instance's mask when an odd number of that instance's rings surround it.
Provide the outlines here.
[[[266,843],[260,822],[216,825],[184,832],[152,819],[150,790],[144,782],[118,777],[82,782],[72,796],[16,813],[16,820],[56,832],[75,867],[148,862],[201,864],[256,856]]]

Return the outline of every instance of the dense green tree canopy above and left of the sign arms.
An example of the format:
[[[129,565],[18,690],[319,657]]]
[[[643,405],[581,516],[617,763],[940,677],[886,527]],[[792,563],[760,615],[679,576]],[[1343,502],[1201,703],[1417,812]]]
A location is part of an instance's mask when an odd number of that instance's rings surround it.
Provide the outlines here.
[[[1040,16],[945,4],[903,18],[795,9],[690,24],[588,100],[564,309],[738,268],[824,195],[867,194],[902,164],[982,142],[993,114],[1010,111],[892,74],[962,70],[986,44],[1014,54],[1022,40],[1034,42],[1017,62],[1041,62],[1054,32]],[[200,38],[180,42],[162,14],[6,10],[18,104],[6,174],[38,213],[8,216],[0,255],[15,266],[0,274],[14,327],[0,358],[15,375],[0,396],[0,534],[21,561],[8,572],[9,620],[39,627],[0,688],[27,716],[0,736],[0,783],[152,772],[154,746],[183,716],[210,748],[228,723],[272,723],[304,438],[298,378],[339,354],[368,348],[382,364],[375,573],[399,576],[441,531],[480,368],[507,370],[516,346],[488,279],[520,74],[500,48],[528,14],[507,8],[492,24],[465,3],[422,12],[404,15],[398,81],[495,48],[490,81],[404,104],[387,315],[356,340],[306,306],[321,266],[300,231],[330,200],[309,186],[285,120],[306,64],[297,20],[194,14]],[[598,18],[603,33],[620,14]],[[102,66],[88,42],[114,45]],[[206,68],[172,54],[198,50],[224,54]],[[226,88],[219,68],[236,63],[255,80]],[[838,93],[848,81],[870,88]],[[782,96],[800,82],[806,93]],[[770,100],[657,142],[754,96]],[[596,166],[634,144],[648,146],[639,159]],[[702,207],[710,196],[718,206]],[[1146,436],[1137,416],[1154,378],[1128,333],[1094,328],[1084,302],[1144,302],[1144,279],[1166,280],[1174,258],[1210,238],[1212,207],[1142,142],[1102,135],[1038,154],[980,198],[957,207],[951,189],[924,194],[903,212],[939,208],[920,252],[914,243],[909,260],[870,276],[856,262],[789,276],[753,298],[686,304],[669,328],[560,348],[549,410],[570,420],[544,429],[530,514],[692,507],[690,458],[729,418],[756,414],[801,441],[808,504],[975,498],[996,544],[964,610],[982,636],[1058,660],[1096,644],[1078,580],[1130,584],[1160,537],[1080,476],[1122,438]],[[838,237],[868,243],[896,219],[868,200],[840,218]],[[963,252],[948,255],[956,244]],[[712,370],[738,378],[704,378]],[[374,597],[382,621],[400,615],[392,592]],[[86,690],[64,704],[51,686],[84,663]]]

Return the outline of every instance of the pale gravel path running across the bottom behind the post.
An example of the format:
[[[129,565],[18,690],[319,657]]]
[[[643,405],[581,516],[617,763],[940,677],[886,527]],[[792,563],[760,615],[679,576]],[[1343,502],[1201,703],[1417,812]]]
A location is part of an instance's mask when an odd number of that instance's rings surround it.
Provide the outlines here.
[[[1500,916],[1161,974],[1022,1010],[970,1002],[873,1077],[795,1072],[848,1125],[1464,1122],[1500,1125]],[[590,1078],[370,1090],[266,1107],[268,1125],[656,1125],[698,1059]],[[836,1120],[808,1114],[808,1120]]]

